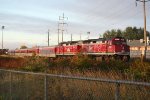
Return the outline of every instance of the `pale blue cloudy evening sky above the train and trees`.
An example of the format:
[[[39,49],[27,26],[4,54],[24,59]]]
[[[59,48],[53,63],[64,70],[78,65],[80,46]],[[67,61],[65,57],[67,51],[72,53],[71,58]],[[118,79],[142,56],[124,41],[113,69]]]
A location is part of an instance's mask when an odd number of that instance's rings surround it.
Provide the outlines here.
[[[58,44],[58,23],[63,23],[64,41],[95,39],[107,30],[143,27],[143,4],[135,0],[0,0],[0,27],[4,48],[16,49]],[[150,2],[146,3],[150,31]],[[62,28],[62,24],[60,24]],[[90,32],[90,34],[87,34]],[[60,33],[59,41],[62,41]],[[2,45],[0,31],[0,48]]]

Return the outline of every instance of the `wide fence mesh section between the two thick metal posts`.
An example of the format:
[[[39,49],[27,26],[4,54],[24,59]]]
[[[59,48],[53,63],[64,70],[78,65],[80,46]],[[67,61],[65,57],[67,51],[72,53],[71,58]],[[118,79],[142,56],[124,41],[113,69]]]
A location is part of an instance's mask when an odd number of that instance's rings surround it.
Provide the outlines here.
[[[113,84],[88,80],[48,79],[48,100],[114,99]]]

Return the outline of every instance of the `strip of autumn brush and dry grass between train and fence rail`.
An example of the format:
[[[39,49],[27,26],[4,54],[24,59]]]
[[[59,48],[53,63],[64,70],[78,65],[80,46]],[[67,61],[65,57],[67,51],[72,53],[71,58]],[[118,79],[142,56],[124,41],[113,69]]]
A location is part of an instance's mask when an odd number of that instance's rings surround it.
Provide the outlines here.
[[[87,76],[117,80],[150,81],[150,63],[132,60],[101,62],[87,56],[48,59],[41,57],[0,57],[0,67],[72,76]]]

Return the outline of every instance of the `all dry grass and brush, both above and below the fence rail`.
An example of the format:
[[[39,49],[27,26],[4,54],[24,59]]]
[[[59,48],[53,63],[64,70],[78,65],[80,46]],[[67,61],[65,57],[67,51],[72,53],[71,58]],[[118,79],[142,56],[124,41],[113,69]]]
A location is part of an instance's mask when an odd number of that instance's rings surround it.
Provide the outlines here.
[[[87,57],[47,59],[40,57],[16,58],[1,57],[0,66],[17,70],[84,76],[115,80],[140,80],[149,82],[149,62],[139,60],[124,63],[121,61],[98,62]],[[0,97],[9,99],[9,73],[0,74]],[[48,99],[51,100],[114,100],[115,84],[47,77]],[[150,97],[149,87],[122,84],[122,99],[147,99]],[[44,76],[12,74],[13,99],[41,100],[44,98]]]

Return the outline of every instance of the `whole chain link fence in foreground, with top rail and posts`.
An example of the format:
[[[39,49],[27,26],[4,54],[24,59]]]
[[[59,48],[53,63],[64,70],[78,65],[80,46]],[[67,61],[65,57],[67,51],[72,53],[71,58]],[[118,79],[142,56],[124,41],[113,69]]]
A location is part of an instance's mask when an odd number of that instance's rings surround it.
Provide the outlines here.
[[[0,69],[0,100],[148,100],[150,83]]]

